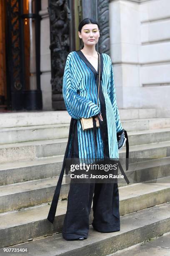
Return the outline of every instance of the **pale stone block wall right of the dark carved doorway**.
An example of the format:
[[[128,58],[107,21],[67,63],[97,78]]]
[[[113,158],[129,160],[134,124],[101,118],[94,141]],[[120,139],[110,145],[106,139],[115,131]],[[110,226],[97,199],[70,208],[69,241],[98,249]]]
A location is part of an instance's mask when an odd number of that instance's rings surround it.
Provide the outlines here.
[[[170,1],[110,0],[119,108],[170,108]]]

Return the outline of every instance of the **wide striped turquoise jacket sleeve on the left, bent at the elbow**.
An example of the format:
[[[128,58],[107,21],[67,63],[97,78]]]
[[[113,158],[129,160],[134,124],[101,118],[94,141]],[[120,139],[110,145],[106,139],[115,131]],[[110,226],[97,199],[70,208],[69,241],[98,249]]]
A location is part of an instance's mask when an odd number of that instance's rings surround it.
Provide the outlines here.
[[[68,54],[62,84],[62,94],[69,115],[74,119],[90,118],[100,113],[100,108],[91,100],[77,93],[77,77],[71,68],[71,54]]]

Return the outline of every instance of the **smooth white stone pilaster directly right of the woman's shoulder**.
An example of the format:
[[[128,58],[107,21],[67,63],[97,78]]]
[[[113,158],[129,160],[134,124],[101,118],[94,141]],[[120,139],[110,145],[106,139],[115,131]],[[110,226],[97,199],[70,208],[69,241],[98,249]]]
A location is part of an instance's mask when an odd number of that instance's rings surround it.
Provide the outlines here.
[[[139,87],[138,45],[139,5],[130,1],[110,1],[110,57],[113,64],[117,105],[134,107],[133,90]],[[128,95],[127,94],[128,90]]]

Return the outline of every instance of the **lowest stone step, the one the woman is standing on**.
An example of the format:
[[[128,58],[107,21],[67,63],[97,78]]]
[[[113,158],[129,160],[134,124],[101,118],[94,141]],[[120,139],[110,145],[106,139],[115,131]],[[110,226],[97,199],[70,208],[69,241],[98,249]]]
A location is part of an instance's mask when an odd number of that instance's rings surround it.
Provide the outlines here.
[[[27,248],[28,256],[108,256],[110,253],[114,253],[120,249],[151,240],[169,232],[170,203],[156,205],[145,210],[121,216],[120,223],[120,231],[113,233],[99,233],[93,230],[90,225],[88,238],[84,241],[65,241],[62,238],[62,234],[55,234],[11,248]],[[1,251],[3,253],[2,249]],[[151,255],[152,253],[153,251],[151,251]],[[16,253],[10,253],[10,255],[14,256]]]

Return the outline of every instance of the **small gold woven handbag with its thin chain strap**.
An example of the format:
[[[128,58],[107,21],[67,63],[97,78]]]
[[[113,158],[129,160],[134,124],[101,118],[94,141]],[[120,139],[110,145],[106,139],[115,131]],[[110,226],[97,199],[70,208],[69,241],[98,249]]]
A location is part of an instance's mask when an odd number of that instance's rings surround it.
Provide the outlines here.
[[[100,54],[97,52],[98,56],[99,56],[99,84],[98,84],[98,96],[97,96],[97,106],[99,103],[99,87],[100,87]],[[82,130],[88,130],[93,128],[93,121],[92,121],[92,117],[90,118],[80,118],[81,121],[81,125],[82,125]],[[97,117],[97,121],[96,121],[96,127],[98,128],[99,125],[99,119]]]

